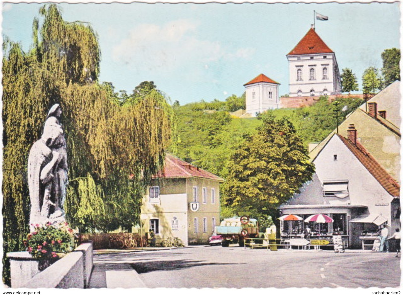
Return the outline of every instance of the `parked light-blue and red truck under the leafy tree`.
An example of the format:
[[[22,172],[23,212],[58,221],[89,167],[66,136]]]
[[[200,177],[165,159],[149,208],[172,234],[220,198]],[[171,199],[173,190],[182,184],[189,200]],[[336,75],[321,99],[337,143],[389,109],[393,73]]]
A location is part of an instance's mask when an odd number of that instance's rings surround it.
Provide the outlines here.
[[[259,237],[258,220],[248,216],[226,218],[216,226],[216,235],[222,237],[222,247],[228,247],[231,243],[245,245],[245,238]]]

